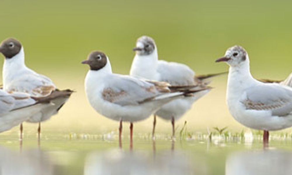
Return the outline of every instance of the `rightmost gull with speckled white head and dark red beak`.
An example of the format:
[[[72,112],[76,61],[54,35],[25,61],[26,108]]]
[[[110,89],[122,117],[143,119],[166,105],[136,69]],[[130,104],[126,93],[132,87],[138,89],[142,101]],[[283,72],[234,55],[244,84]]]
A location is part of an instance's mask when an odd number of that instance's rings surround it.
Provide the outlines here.
[[[241,46],[228,48],[216,62],[230,66],[226,98],[231,115],[246,127],[263,130],[264,146],[268,145],[269,131],[292,126],[291,87],[254,79],[248,54]]]

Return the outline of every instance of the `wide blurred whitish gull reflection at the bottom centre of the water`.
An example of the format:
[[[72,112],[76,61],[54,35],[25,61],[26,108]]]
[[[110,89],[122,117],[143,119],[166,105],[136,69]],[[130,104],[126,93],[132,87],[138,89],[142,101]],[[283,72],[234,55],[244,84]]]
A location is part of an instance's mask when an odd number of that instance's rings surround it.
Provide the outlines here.
[[[196,166],[196,162],[176,151],[125,152],[114,149],[105,153],[91,153],[86,157],[84,175],[172,175],[207,174],[206,167]]]

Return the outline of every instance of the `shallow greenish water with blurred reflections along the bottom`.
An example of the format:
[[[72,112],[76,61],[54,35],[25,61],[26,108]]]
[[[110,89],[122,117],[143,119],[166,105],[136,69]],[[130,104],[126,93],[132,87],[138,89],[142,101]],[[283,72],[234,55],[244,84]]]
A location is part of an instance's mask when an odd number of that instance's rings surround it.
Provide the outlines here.
[[[71,137],[70,137],[71,135]],[[74,134],[73,134],[74,135]],[[58,135],[37,140],[0,139],[0,174],[291,174],[292,142],[272,140],[177,139]]]

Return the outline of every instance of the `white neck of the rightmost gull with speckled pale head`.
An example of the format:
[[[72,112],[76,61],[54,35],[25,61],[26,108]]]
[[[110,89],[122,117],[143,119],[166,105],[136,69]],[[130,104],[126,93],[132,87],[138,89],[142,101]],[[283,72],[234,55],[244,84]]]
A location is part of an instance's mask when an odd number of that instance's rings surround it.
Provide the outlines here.
[[[257,81],[253,78],[249,68],[249,59],[239,66],[230,66],[227,81],[227,100],[238,98],[240,95]]]

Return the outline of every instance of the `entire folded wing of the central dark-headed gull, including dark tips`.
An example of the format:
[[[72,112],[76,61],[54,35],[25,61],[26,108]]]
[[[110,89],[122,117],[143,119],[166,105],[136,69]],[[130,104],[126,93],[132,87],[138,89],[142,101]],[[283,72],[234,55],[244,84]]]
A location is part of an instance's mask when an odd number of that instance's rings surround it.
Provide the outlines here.
[[[194,86],[169,87],[168,83],[144,81],[131,76],[111,74],[102,91],[102,98],[121,106],[138,105],[147,101],[187,95]],[[205,90],[202,89],[201,90]]]

